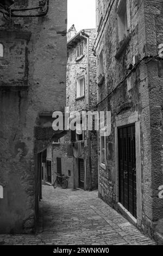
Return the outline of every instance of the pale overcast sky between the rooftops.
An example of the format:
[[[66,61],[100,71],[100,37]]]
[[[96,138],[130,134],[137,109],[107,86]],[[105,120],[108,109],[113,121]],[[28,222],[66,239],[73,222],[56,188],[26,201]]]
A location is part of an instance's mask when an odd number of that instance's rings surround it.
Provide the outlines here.
[[[79,32],[81,29],[96,28],[96,0],[68,0],[69,29],[73,24]]]

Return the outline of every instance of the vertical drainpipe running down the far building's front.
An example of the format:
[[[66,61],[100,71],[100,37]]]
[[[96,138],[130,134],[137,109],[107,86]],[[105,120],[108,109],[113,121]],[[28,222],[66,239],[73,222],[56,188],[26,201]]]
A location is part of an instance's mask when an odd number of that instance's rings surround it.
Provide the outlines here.
[[[87,105],[88,110],[90,111],[90,38],[89,36],[85,36],[80,33],[80,36],[87,41]],[[88,144],[88,150],[89,150],[89,166],[90,166],[90,190],[92,189],[92,162],[91,162],[91,132],[88,130],[88,137],[87,137],[87,144]]]

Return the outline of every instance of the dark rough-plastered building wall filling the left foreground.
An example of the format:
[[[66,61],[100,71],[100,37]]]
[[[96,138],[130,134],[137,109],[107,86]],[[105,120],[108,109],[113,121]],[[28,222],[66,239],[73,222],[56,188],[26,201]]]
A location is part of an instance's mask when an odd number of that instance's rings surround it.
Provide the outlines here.
[[[67,1],[43,2],[45,16],[24,10],[39,0],[15,0],[19,17],[0,17],[0,233],[35,230],[42,151],[55,138],[53,111],[66,104]]]

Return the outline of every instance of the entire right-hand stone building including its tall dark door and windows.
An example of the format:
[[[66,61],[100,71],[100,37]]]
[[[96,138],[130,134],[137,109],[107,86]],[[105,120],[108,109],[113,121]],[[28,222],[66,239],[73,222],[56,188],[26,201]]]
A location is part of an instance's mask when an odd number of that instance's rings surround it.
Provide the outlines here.
[[[98,136],[99,196],[159,240],[163,3],[97,0],[96,7],[98,109],[111,111],[110,136]]]

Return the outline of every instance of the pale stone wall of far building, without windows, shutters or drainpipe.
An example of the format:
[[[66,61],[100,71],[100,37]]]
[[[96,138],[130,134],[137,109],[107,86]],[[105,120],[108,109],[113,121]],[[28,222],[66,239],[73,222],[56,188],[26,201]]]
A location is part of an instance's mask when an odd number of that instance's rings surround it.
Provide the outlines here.
[[[67,107],[70,112],[81,111],[82,109],[88,109],[88,101],[90,100],[90,107],[95,107],[97,103],[97,87],[96,87],[96,57],[93,56],[92,47],[95,42],[95,29],[85,29],[85,34],[89,35],[89,62],[90,62],[90,74],[87,74],[88,56],[87,56],[87,40],[81,37],[83,42],[83,55],[84,57],[76,62],[76,46],[67,49]],[[78,42],[80,44],[80,42]],[[82,68],[82,69],[81,69]],[[82,99],[76,100],[76,80],[80,76],[85,77],[85,95]],[[90,78],[90,99],[88,95],[88,80]],[[82,142],[82,155],[80,158],[85,161],[85,189],[90,187],[97,187],[98,183],[98,169],[97,169],[97,134],[91,134],[91,153],[88,149],[88,132],[85,131],[84,142]],[[78,161],[77,159],[71,159],[67,157],[67,145],[71,143],[70,132],[60,140],[60,146],[54,145],[53,147],[53,161],[60,155],[63,162],[62,168],[63,174],[67,175],[68,168],[71,170],[73,167],[73,176],[68,179],[70,187],[78,187]],[[91,167],[90,167],[91,158]],[[65,164],[65,163],[66,164]],[[72,165],[73,162],[73,165]],[[54,166],[56,169],[56,167]],[[90,179],[91,176],[91,179]],[[91,185],[90,185],[91,180]]]

